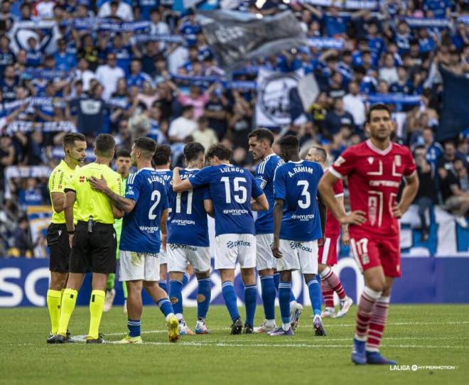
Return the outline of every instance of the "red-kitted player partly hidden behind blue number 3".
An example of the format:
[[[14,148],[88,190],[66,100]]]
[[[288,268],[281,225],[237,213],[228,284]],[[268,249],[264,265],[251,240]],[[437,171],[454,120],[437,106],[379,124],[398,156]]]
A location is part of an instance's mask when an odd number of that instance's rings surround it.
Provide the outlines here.
[[[327,153],[322,147],[312,147],[306,154],[307,161],[318,162],[323,168],[326,167]],[[342,210],[344,209],[344,186],[342,180],[338,180],[333,185],[334,197],[338,200]],[[353,305],[352,298],[345,294],[345,290],[340,283],[340,278],[334,273],[331,266],[337,264],[337,244],[340,236],[340,222],[335,219],[330,210],[328,210],[327,219],[325,221],[323,244],[319,245],[318,251],[318,273],[320,274],[320,288],[323,292],[325,310],[321,314],[321,318],[340,318],[347,314]],[[350,242],[348,226],[342,226],[342,244],[347,246]],[[334,292],[339,297],[339,311],[335,314],[334,308]]]

